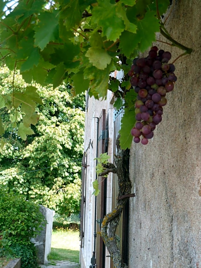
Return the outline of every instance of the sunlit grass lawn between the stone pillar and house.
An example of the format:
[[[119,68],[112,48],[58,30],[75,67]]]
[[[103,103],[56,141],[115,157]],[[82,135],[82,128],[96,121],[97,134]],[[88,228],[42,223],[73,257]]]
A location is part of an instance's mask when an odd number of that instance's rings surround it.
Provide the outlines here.
[[[49,260],[68,260],[79,263],[79,232],[62,228],[52,231],[51,252]]]

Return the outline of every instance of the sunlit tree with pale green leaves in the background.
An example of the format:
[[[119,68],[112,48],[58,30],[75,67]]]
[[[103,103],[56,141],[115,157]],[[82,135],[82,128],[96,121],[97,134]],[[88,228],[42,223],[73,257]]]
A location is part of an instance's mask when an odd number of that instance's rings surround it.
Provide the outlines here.
[[[7,67],[1,68],[2,94],[12,91],[9,83],[12,77]],[[15,95],[33,87],[26,85],[19,74],[15,77]],[[20,125],[26,128],[22,106],[2,108],[5,133],[0,154],[0,184],[60,214],[76,213],[80,202],[84,95],[72,97],[70,86],[65,84],[54,90],[37,84],[34,88],[41,104],[34,111],[37,120],[33,117],[33,130],[29,127],[34,134],[26,136],[24,141],[18,137]]]

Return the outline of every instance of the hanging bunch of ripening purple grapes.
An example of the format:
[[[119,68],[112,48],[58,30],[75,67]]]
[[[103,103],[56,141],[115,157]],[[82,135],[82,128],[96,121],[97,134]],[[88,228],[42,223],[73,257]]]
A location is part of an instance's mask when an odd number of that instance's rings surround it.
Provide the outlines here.
[[[171,53],[153,46],[147,58],[135,58],[128,75],[137,95],[135,102],[135,127],[131,129],[134,142],[146,145],[162,120],[166,93],[174,88],[177,78],[174,64],[169,63]]]

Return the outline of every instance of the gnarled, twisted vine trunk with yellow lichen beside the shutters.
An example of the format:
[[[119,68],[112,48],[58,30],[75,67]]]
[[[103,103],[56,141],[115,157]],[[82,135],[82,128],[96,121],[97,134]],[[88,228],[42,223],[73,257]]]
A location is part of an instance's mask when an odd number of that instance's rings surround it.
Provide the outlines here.
[[[129,178],[129,149],[121,150],[119,146],[119,136],[117,138],[117,157],[115,164],[117,169],[117,177],[119,182],[119,194],[117,196],[116,207],[109,212],[103,219],[100,235],[109,251],[115,268],[126,268],[127,265],[122,262],[121,252],[117,246],[115,239],[116,228],[119,224],[121,213],[129,197],[135,196],[131,194],[132,184]]]

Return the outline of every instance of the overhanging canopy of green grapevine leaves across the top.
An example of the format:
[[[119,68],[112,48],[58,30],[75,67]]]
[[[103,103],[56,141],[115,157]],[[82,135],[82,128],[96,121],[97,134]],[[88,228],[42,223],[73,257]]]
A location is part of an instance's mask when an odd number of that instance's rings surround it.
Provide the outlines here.
[[[19,0],[13,4],[1,0],[0,4],[1,60],[11,70],[19,69],[26,83],[56,88],[64,81],[76,94],[89,88],[90,96],[105,98],[109,89],[124,98],[130,89],[126,81],[131,59],[155,41],[155,33],[163,26],[159,14],[165,13],[169,1]],[[168,36],[167,31],[165,34]],[[120,69],[121,81],[111,76]],[[14,80],[15,76],[12,84]],[[13,90],[9,100],[1,103],[1,107],[23,108],[26,120],[18,129],[22,139],[32,134],[30,123],[36,121],[38,102],[35,88],[28,86],[19,96]],[[119,104],[118,100],[115,105]],[[131,102],[125,105],[131,117],[135,107]],[[123,140],[130,133],[125,124],[126,120],[122,121]],[[3,132],[0,122],[0,134]],[[124,144],[121,141],[124,148],[131,143],[131,138],[126,140]]]

